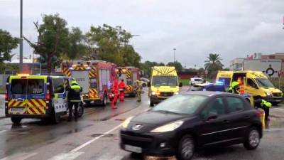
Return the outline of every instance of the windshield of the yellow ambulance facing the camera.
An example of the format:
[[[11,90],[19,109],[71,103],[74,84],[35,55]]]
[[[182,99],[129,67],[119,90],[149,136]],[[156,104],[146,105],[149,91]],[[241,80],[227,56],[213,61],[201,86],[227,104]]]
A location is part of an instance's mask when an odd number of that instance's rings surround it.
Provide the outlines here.
[[[177,86],[178,79],[175,76],[153,76],[154,86]]]

